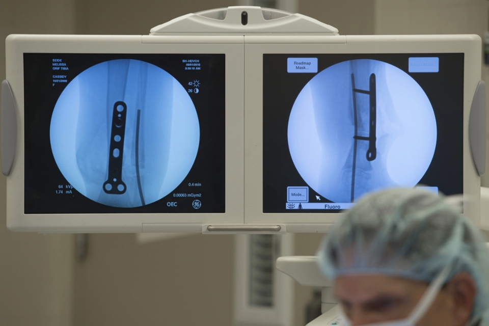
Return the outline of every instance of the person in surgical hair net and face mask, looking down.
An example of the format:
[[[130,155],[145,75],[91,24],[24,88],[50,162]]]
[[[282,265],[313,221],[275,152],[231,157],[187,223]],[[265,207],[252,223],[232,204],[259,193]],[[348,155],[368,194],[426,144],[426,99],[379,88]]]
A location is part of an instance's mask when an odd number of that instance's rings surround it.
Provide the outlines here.
[[[401,188],[367,195],[318,256],[344,325],[489,325],[489,252],[437,195]]]

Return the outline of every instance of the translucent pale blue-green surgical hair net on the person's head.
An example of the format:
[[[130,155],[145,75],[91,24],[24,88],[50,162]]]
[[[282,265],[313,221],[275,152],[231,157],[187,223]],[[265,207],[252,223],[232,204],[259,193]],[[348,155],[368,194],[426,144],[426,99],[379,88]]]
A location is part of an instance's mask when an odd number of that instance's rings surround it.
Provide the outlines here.
[[[393,188],[363,197],[325,237],[319,267],[334,280],[348,274],[385,274],[431,282],[452,264],[447,280],[472,275],[472,316],[489,303],[489,252],[482,235],[437,195]]]

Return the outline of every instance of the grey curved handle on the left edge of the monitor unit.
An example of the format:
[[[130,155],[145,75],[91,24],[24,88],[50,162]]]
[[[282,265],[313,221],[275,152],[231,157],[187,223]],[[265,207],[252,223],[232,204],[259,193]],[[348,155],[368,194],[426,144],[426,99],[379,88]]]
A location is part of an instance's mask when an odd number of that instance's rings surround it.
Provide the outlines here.
[[[9,82],[2,82],[2,106],[0,119],[2,120],[2,173],[9,175],[17,148],[17,114],[14,95]]]

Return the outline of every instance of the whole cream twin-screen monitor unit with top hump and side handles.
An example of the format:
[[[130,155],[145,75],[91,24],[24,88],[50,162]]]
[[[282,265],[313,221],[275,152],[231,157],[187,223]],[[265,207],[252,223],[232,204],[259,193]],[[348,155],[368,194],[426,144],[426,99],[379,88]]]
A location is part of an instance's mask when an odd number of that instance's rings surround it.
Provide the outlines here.
[[[259,7],[148,36],[10,35],[7,226],[327,232],[363,194],[463,194],[480,222],[476,35],[342,36]]]

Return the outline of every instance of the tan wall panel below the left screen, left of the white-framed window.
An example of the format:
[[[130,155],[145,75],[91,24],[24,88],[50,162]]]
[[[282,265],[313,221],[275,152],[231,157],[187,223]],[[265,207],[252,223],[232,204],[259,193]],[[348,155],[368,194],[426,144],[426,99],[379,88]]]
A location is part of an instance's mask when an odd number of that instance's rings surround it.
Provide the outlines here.
[[[139,244],[90,234],[74,274],[74,325],[231,325],[231,235]]]

